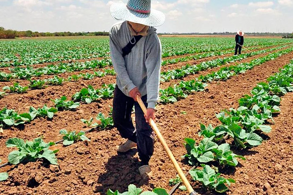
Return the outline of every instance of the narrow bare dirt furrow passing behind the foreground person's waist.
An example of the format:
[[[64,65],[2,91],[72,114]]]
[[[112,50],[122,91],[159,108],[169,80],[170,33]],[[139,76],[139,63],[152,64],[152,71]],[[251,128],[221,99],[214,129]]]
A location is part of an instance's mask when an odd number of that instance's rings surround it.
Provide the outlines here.
[[[279,50],[271,51],[269,53],[277,51]],[[269,53],[255,55],[242,61],[231,63],[229,65],[224,66],[230,66],[232,64],[241,62],[249,62],[252,59],[263,57],[265,55],[268,55]],[[211,73],[212,71],[217,71],[219,69],[220,67],[208,69],[206,71],[200,71],[195,75],[186,76],[181,80],[192,80],[199,76],[199,74],[205,75]],[[179,83],[181,80],[171,80],[169,82],[161,83],[160,87],[164,89],[173,84]],[[115,76],[106,76],[101,78],[95,77],[92,80],[82,80],[78,82],[65,83],[62,86],[51,86],[45,89],[31,90],[24,94],[12,94],[1,100],[0,108],[6,106],[9,109],[15,109],[17,112],[27,112],[30,106],[41,107],[44,104],[48,104],[48,106],[53,106],[53,103],[50,101],[50,99],[60,98],[64,95],[67,96],[67,98],[71,98],[73,94],[80,91],[82,88],[87,87],[88,85],[92,85],[94,88],[99,88],[104,83],[115,83]]]

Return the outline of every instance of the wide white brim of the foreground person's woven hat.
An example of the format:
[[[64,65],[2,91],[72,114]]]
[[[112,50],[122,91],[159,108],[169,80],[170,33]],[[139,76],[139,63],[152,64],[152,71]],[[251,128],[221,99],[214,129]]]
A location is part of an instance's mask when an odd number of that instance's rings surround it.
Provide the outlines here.
[[[161,26],[165,22],[165,14],[155,9],[150,14],[142,14],[127,9],[124,3],[114,3],[110,6],[110,13],[117,20],[127,20],[151,27]]]

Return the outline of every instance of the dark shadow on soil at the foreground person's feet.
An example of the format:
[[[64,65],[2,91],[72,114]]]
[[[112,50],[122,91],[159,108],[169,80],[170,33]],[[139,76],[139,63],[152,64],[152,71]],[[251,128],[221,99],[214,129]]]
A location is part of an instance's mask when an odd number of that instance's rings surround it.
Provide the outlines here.
[[[134,184],[136,187],[141,187],[148,184],[147,180],[143,180],[139,175],[139,159],[134,157],[137,153],[133,149],[125,154],[118,153],[109,158],[105,164],[107,172],[102,173],[98,182],[101,186],[97,186],[95,193],[106,194],[108,189],[113,191],[125,192],[128,190],[129,184]]]

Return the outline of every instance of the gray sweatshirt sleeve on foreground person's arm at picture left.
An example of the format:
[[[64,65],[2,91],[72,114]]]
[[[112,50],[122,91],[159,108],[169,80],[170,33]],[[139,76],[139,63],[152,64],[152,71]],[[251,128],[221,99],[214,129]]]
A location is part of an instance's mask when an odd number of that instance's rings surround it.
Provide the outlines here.
[[[122,84],[122,87],[128,92],[131,91],[136,86],[132,83],[128,76],[125,67],[125,61],[122,57],[122,48],[118,42],[117,33],[114,32],[113,28],[110,31],[110,52],[113,67],[115,69],[119,81]]]

